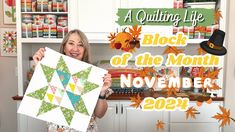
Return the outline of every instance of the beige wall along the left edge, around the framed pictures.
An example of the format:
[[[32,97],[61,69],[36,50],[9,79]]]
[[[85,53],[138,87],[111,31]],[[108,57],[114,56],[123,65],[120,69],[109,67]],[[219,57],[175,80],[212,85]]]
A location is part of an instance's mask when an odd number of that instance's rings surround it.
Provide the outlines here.
[[[15,28],[15,25],[3,25],[3,0],[0,0],[0,28]],[[16,57],[0,56],[0,132],[17,131],[16,101],[17,95]]]

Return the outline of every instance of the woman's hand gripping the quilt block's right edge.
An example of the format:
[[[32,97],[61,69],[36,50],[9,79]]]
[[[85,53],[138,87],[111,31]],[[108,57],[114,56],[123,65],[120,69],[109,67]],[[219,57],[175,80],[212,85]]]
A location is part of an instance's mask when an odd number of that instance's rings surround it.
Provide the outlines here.
[[[101,92],[100,92],[101,96],[106,95],[106,92],[108,91],[108,89],[112,85],[111,74],[109,74],[109,73],[105,74],[105,76],[103,77],[103,81],[104,81],[104,85],[103,85]]]

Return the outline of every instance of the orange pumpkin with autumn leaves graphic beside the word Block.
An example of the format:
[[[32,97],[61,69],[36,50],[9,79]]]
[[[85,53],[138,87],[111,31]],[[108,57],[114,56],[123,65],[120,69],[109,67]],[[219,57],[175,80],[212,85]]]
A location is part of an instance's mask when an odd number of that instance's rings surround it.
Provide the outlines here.
[[[110,41],[110,47],[112,49],[121,49],[124,52],[134,52],[136,48],[140,48],[140,32],[141,26],[138,27],[132,26],[132,28],[128,28],[129,32],[126,32],[126,28],[119,33],[110,33],[108,36]]]

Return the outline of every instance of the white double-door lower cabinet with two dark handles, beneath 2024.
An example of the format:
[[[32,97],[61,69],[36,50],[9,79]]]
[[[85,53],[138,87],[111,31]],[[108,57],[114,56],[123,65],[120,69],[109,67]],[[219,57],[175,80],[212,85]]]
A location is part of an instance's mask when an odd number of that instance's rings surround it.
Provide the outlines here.
[[[167,120],[166,112],[143,112],[130,107],[130,101],[108,101],[108,111],[97,119],[100,132],[167,132],[157,130],[157,120]]]

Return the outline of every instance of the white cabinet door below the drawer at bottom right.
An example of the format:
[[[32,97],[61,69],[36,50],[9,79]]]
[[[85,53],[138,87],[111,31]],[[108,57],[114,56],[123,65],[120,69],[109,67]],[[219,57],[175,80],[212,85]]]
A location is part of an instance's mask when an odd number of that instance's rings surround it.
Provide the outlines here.
[[[217,123],[173,123],[170,132],[220,132]]]

